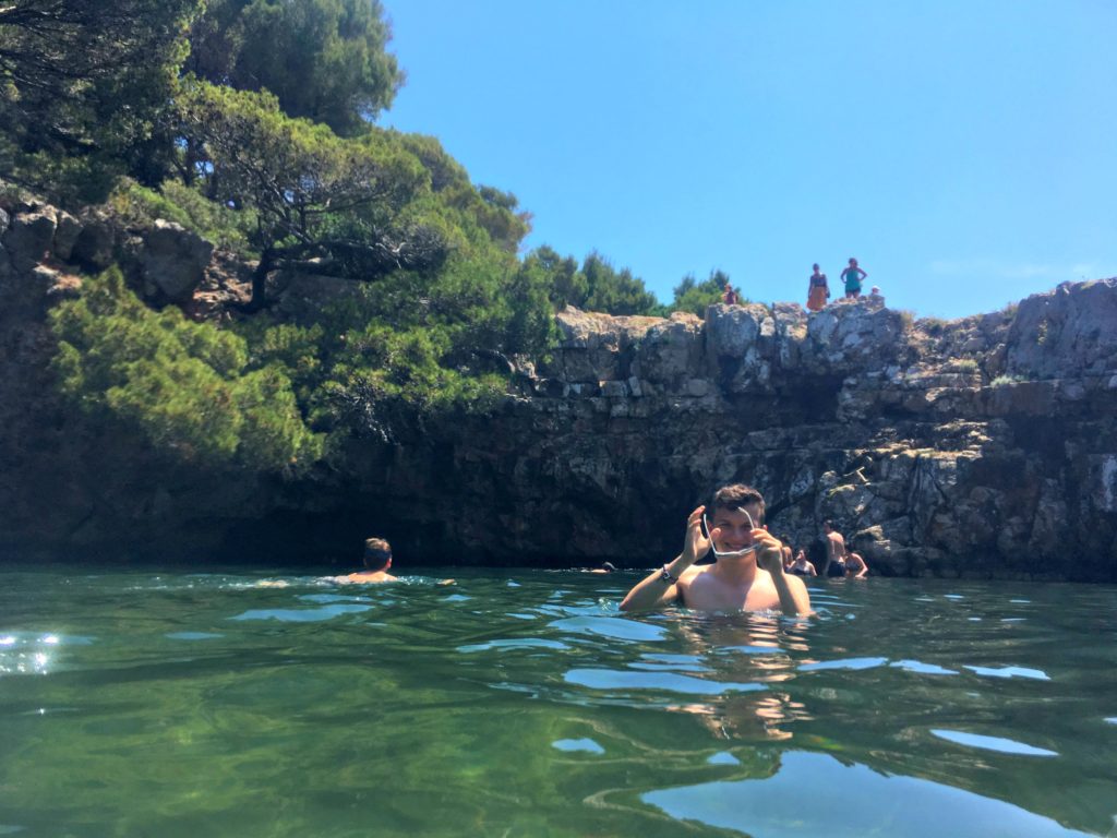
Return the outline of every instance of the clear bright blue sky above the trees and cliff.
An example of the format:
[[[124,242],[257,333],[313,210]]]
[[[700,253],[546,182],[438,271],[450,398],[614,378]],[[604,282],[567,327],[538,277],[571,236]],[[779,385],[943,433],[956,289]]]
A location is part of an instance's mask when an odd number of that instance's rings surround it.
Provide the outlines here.
[[[918,316],[1117,275],[1113,0],[383,0],[431,134],[665,302],[805,302],[850,256]]]

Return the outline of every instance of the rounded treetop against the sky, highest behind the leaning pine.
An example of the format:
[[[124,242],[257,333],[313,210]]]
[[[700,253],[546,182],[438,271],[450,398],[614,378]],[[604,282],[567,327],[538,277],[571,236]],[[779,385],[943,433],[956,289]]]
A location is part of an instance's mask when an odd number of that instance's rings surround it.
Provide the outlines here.
[[[191,29],[185,70],[269,91],[289,116],[353,136],[403,82],[390,39],[378,0],[210,0]]]

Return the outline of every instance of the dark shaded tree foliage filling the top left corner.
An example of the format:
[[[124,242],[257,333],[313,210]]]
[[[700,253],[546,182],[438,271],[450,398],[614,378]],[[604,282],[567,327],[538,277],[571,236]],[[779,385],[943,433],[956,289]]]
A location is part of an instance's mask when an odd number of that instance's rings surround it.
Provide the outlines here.
[[[199,0],[15,0],[0,7],[0,174],[55,200],[157,181],[160,132]]]

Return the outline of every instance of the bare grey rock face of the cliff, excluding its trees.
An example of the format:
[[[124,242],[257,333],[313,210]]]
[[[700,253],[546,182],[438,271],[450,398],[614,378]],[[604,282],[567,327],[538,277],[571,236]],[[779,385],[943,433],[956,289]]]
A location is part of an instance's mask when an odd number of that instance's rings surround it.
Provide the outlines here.
[[[491,416],[354,438],[290,482],[90,431],[54,391],[45,316],[83,272],[118,261],[149,299],[217,316],[244,292],[227,255],[34,202],[0,215],[0,246],[10,555],[316,561],[375,532],[417,563],[649,566],[744,480],[773,532],[808,544],[833,518],[882,573],[1117,581],[1117,279],[951,323],[879,301],[567,310]],[[306,288],[287,283],[290,316],[313,316]]]

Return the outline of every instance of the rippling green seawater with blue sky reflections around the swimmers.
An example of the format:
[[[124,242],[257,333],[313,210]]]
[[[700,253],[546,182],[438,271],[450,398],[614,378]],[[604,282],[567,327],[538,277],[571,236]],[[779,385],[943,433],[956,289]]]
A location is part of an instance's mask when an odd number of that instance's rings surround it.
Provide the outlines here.
[[[315,573],[0,571],[0,836],[1117,835],[1114,588]]]

